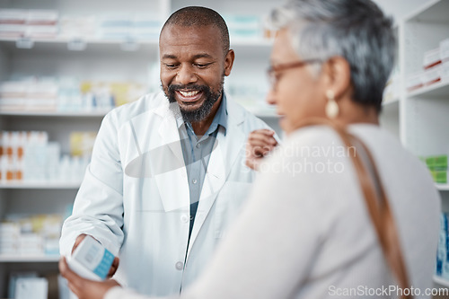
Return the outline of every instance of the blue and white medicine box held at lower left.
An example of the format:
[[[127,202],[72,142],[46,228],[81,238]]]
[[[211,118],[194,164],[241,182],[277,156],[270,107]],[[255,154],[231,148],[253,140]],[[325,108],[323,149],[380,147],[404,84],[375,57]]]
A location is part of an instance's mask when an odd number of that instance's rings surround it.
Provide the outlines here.
[[[68,266],[79,276],[104,280],[114,261],[114,255],[91,236],[86,236],[74,253],[67,257]]]

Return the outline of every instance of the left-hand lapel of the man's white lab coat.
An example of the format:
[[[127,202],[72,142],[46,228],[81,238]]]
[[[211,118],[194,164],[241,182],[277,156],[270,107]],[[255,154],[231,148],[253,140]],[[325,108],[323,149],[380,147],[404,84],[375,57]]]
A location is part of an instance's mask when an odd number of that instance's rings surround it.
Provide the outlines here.
[[[160,146],[167,148],[163,151],[163,163],[177,159],[178,162],[175,164],[182,165],[180,168],[160,173],[154,177],[163,201],[163,208],[165,212],[188,208],[190,203],[189,182],[174,113],[169,109],[169,105],[163,105],[156,110],[156,113],[163,118],[158,129]]]

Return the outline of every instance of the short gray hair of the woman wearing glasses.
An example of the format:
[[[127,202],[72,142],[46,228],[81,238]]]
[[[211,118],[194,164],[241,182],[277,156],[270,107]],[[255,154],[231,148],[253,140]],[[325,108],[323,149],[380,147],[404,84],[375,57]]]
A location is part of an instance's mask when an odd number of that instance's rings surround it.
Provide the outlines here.
[[[382,108],[394,64],[392,19],[370,0],[290,0],[273,10],[271,24],[286,28],[303,59],[344,57],[351,69],[353,101]]]

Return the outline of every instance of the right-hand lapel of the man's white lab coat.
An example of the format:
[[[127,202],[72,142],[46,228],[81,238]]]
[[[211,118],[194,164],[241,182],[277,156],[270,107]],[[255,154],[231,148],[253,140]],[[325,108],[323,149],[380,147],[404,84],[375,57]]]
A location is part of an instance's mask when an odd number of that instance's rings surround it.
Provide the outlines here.
[[[228,103],[228,128],[226,129],[226,136],[224,136],[223,131],[220,131],[216,136],[216,145],[207,165],[207,173],[198,203],[198,212],[190,236],[188,255],[207,214],[216,201],[218,192],[225,184],[235,159],[246,142],[246,136],[243,134],[242,128],[239,127],[244,121],[242,109],[238,109],[231,99],[227,98],[226,101]],[[220,129],[223,130],[224,128]],[[240,167],[240,165],[236,167]]]

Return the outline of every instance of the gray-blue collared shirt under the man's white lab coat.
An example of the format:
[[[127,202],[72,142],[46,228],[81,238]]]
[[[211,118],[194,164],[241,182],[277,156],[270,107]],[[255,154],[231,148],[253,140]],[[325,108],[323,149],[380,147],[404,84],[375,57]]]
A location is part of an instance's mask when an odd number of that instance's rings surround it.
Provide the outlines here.
[[[226,96],[223,93],[220,107],[216,111],[216,116],[212,120],[212,124],[207,129],[204,136],[197,136],[189,122],[184,122],[182,118],[176,119],[180,132],[180,145],[184,156],[184,163],[187,169],[187,178],[189,180],[190,192],[190,233],[197,214],[198,201],[203,188],[203,182],[206,177],[207,165],[209,163],[212,149],[216,142],[217,134],[226,134],[227,127],[227,110]],[[220,131],[219,128],[224,130]],[[223,132],[223,133],[221,133]]]

